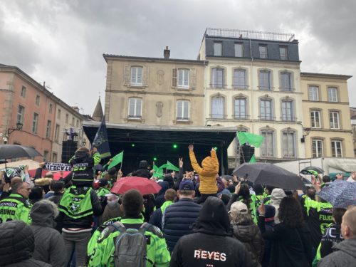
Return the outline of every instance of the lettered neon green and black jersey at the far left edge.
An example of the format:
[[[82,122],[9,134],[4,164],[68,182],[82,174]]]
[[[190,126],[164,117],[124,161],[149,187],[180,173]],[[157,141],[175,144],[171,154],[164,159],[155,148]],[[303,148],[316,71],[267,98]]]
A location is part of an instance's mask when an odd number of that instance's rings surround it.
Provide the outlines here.
[[[0,224],[6,221],[21,220],[31,224],[31,204],[21,194],[10,194],[0,201]]]

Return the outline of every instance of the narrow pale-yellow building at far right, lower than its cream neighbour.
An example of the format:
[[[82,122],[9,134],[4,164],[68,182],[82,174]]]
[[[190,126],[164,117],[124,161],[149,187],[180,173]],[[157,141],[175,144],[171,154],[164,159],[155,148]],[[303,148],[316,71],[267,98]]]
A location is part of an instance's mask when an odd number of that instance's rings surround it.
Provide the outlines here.
[[[300,74],[305,157],[355,157],[347,93],[351,77]]]

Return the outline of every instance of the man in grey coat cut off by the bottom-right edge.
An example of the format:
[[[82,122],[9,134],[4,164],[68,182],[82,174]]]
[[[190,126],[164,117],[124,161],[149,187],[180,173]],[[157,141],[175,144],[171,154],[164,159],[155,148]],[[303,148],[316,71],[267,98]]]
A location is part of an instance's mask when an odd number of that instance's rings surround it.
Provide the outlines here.
[[[334,252],[322,258],[318,267],[356,266],[356,206],[342,216],[341,234],[345,240],[333,246]]]

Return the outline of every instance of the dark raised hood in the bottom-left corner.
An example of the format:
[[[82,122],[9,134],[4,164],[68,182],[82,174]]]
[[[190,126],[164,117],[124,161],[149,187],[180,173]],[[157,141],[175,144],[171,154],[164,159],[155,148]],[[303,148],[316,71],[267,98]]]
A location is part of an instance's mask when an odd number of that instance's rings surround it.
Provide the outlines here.
[[[23,221],[8,221],[0,224],[1,266],[32,258],[34,250],[35,236],[30,226]]]

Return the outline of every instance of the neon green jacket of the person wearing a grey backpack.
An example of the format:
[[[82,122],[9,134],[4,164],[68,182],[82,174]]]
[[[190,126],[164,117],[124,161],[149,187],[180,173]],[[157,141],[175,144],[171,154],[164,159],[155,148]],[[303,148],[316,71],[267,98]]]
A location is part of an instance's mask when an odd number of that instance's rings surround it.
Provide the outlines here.
[[[126,228],[128,224],[143,224],[142,219],[122,219],[122,224]],[[115,253],[115,238],[120,233],[108,226],[98,239],[98,243],[93,249],[92,256],[90,257],[89,267],[113,267],[114,253]],[[152,267],[153,262],[157,267],[168,267],[171,256],[167,249],[166,241],[163,238],[162,232],[155,226],[150,227],[150,231],[145,232],[147,238],[147,267]]]

